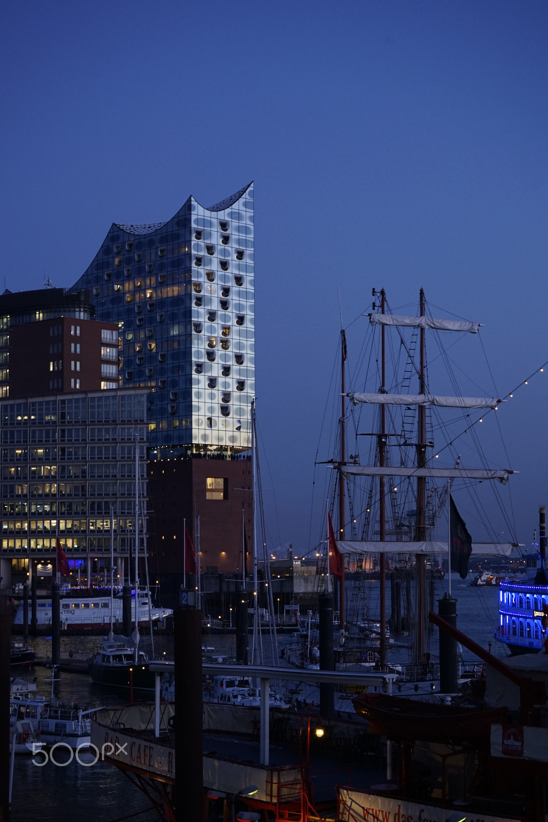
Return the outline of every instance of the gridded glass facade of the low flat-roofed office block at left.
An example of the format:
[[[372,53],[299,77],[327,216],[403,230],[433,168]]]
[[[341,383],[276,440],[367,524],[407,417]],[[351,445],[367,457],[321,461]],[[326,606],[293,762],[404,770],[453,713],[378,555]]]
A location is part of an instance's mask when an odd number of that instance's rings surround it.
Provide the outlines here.
[[[111,506],[115,554],[135,549],[136,433],[146,526],[145,404],[145,390],[0,402],[2,556],[51,556],[57,536],[68,556],[109,556]]]

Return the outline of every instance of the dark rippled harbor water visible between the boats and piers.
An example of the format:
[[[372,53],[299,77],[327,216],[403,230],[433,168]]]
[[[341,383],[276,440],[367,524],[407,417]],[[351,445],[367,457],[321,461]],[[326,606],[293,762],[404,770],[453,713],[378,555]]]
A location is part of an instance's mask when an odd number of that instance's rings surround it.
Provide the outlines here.
[[[347,600],[350,602],[356,591],[355,583],[347,585]],[[361,582],[361,593],[368,600],[369,617],[378,618],[379,583],[375,581]],[[436,581],[435,596],[443,596],[447,590],[447,580]],[[452,578],[452,594],[458,600],[458,628],[472,640],[488,649],[492,644],[491,652],[497,656],[507,655],[505,646],[497,643],[493,633],[498,612],[498,588],[472,588],[469,580],[460,580],[457,575]],[[387,595],[389,607],[389,593]],[[389,615],[388,615],[389,616]],[[431,635],[431,642],[437,645],[437,629]],[[279,648],[292,641],[291,635],[279,636]],[[235,652],[236,638],[233,634],[204,636],[204,644],[215,649],[219,655],[231,656]],[[51,650],[51,642],[47,637],[30,640],[36,650],[38,658],[45,658]],[[73,653],[91,655],[97,647],[97,639],[90,636],[62,636],[62,652],[72,650]],[[142,638],[142,648],[150,653],[150,637]],[[269,659],[269,640],[263,635],[265,663]],[[434,648],[433,648],[434,650]],[[173,637],[159,636],[154,638],[154,655],[157,658],[173,659]],[[407,661],[404,658],[404,649],[394,649],[389,660],[394,662]],[[472,653],[463,649],[463,658],[473,659]],[[26,669],[29,670],[29,669]],[[50,692],[50,669],[35,667],[30,674],[36,677],[37,692],[48,696]],[[14,672],[12,672],[14,675]],[[25,671],[21,672],[25,676]],[[87,674],[58,673],[58,698],[71,700],[83,708],[100,707],[102,705],[116,705],[127,701],[127,695],[104,690],[94,686]],[[57,822],[60,815],[66,815],[78,822],[121,822],[121,820],[136,819],[141,822],[152,822],[158,817],[150,810],[148,800],[134,787],[127,777],[109,764],[98,762],[89,765],[92,757],[81,755],[82,763],[72,760],[70,764],[62,766],[69,759],[68,751],[58,749],[57,757],[60,764],[51,762],[39,767],[33,764],[30,756],[17,756],[12,797],[12,822]],[[41,761],[42,757],[36,757]]]

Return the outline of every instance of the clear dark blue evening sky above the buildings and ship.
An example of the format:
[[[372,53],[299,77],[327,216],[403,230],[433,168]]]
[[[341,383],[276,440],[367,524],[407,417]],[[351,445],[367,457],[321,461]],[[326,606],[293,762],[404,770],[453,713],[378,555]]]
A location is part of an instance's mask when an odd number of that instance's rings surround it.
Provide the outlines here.
[[[256,181],[257,409],[282,543],[308,545],[338,289],[345,325],[373,286],[394,307],[423,286],[485,323],[501,393],[548,359],[546,2],[31,0],[4,3],[0,29],[9,289],[68,287],[113,221]],[[474,372],[481,345],[454,356]],[[548,501],[541,380],[499,412],[521,542]]]

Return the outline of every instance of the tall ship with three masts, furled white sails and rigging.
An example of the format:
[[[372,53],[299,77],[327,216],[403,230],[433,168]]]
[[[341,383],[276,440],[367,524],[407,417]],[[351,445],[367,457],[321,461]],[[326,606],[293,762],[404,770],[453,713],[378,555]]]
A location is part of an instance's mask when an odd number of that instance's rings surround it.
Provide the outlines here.
[[[338,453],[325,460],[333,469],[324,494],[333,527],[324,562],[336,580],[339,658],[341,664],[364,664],[373,657],[375,667],[386,671],[391,649],[408,649],[409,677],[435,690],[437,647],[427,615],[437,611],[436,599],[444,593],[439,585],[436,590],[440,565],[449,566],[450,596],[451,570],[465,579],[470,556],[509,556],[518,545],[509,506],[500,505],[500,489],[513,469],[501,468],[500,461],[495,466],[478,436],[481,423],[500,413],[508,397],[466,395],[459,388],[448,351],[459,341],[472,349],[479,322],[436,316],[422,289],[411,316],[392,312],[384,289],[374,289],[373,298],[352,386],[341,330]],[[427,353],[427,339],[434,356],[431,349]],[[477,375],[463,375],[476,386]],[[440,385],[440,393],[431,382]],[[500,524],[488,521],[488,493],[511,541],[503,542]],[[470,501],[480,512],[480,534],[473,541],[459,512]],[[371,557],[378,561],[377,603],[371,603],[371,585],[361,574]]]

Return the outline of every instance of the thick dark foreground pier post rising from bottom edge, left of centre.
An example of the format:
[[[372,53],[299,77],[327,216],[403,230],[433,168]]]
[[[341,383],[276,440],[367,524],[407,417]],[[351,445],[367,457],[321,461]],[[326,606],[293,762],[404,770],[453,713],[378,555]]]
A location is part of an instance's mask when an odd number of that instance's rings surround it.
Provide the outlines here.
[[[202,822],[201,612],[178,608],[175,626],[175,822]]]

